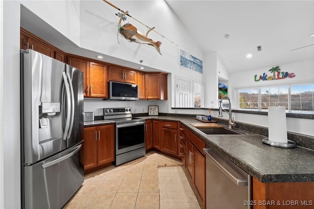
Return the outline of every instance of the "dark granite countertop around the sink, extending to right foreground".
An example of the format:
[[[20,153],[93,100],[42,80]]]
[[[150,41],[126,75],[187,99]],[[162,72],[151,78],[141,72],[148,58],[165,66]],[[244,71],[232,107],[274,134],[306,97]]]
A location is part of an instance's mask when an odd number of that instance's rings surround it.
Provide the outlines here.
[[[173,116],[143,116],[140,118],[182,122],[207,145],[213,147],[262,183],[314,182],[314,150],[299,146],[294,149],[272,147],[262,143],[262,138],[265,136],[254,133],[205,135],[189,125],[189,123],[199,122],[194,118]]]

